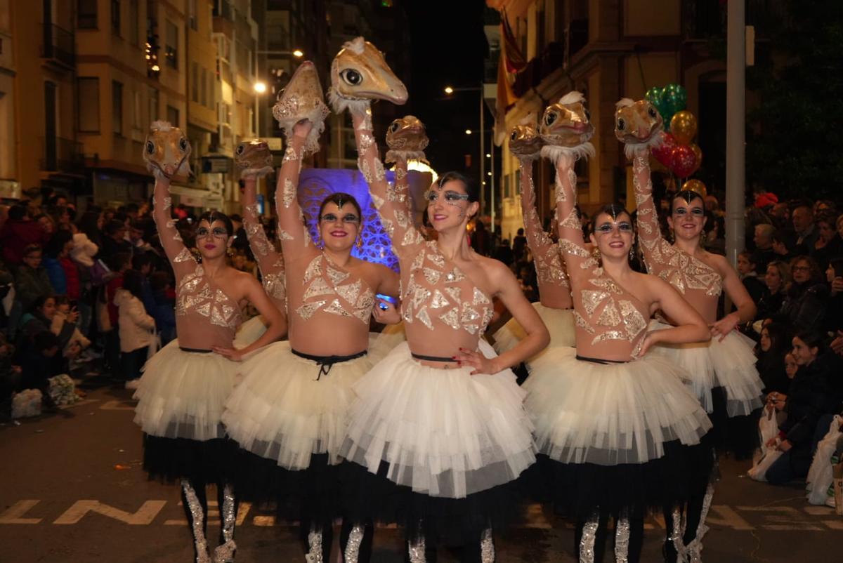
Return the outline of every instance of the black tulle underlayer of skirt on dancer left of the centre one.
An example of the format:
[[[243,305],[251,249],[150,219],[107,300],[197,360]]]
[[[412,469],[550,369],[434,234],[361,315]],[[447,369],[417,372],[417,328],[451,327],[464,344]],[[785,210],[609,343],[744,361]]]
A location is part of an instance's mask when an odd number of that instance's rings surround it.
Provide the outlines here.
[[[274,505],[282,521],[330,524],[342,517],[340,466],[328,464],[326,453],[314,453],[307,469],[291,471],[240,449],[234,485],[240,499]]]

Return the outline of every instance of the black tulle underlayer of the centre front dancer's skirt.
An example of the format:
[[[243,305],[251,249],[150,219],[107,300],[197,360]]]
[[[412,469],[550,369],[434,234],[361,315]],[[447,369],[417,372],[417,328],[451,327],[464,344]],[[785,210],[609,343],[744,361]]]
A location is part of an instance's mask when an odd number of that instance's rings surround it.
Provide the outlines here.
[[[341,466],[343,512],[352,522],[396,523],[409,539],[424,536],[428,544],[479,542],[486,528],[498,530],[524,522],[526,498],[519,478],[464,498],[416,493],[387,479],[389,464],[378,473],[362,465]]]

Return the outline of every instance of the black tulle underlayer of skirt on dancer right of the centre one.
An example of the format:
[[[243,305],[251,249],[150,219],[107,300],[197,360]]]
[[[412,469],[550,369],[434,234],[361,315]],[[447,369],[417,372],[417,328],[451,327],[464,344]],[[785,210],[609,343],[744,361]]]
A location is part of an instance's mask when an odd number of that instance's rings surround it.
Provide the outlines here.
[[[563,464],[544,454],[525,472],[535,500],[574,518],[597,512],[643,517],[687,501],[695,484],[708,479],[714,466],[711,432],[699,444],[665,442],[664,455],[644,464]]]

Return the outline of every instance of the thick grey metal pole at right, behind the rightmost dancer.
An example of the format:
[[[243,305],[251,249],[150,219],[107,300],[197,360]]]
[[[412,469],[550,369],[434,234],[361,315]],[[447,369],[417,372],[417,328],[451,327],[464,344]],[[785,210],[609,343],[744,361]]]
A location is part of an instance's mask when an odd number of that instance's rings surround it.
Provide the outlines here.
[[[746,196],[744,3],[729,2],[726,24],[726,258],[733,266],[744,249]]]

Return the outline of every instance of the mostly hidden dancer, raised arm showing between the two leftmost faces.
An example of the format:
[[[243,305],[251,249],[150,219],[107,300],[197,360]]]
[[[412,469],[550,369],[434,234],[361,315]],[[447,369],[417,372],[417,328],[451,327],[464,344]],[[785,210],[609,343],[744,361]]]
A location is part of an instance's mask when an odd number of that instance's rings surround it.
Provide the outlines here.
[[[260,139],[241,142],[234,151],[234,158],[242,170],[243,180],[243,225],[246,239],[260,270],[260,283],[266,294],[283,314],[287,314],[287,291],[284,288],[284,259],[266,238],[258,215],[256,195],[257,179],[272,171],[272,153],[266,142]],[[257,315],[240,325],[234,337],[234,346],[244,348],[266,332],[266,319]]]

